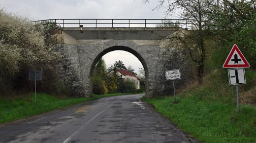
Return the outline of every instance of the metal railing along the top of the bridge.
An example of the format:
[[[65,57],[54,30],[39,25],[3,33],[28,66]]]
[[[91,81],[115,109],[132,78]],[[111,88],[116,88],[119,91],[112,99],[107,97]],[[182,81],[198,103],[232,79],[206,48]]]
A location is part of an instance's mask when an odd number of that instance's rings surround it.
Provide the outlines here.
[[[180,27],[188,28],[189,23],[186,19],[48,19],[33,21],[34,24],[52,24],[58,27]]]

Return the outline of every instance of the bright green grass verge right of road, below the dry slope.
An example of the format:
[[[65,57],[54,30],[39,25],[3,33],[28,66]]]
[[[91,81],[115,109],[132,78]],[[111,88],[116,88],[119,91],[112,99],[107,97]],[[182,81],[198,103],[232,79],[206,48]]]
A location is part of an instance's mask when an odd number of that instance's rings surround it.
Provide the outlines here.
[[[236,110],[233,103],[197,101],[193,96],[144,98],[164,117],[182,130],[206,143],[256,143],[256,108],[250,105]]]

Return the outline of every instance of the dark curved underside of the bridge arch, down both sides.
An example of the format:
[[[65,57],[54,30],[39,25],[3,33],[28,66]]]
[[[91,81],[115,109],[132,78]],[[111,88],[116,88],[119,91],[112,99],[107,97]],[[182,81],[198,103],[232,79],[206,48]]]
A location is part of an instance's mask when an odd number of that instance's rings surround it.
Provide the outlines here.
[[[91,67],[90,67],[90,83],[89,83],[89,96],[93,95],[93,73],[94,73],[94,69],[96,66],[96,63],[98,62],[98,60],[105,54],[111,52],[111,51],[115,51],[115,50],[123,50],[123,51],[127,51],[131,54],[133,54],[135,57],[138,58],[138,60],[141,62],[144,71],[145,71],[145,95],[148,97],[149,96],[149,87],[148,87],[148,82],[149,82],[149,70],[148,70],[148,66],[145,62],[145,60],[143,59],[143,57],[134,49],[129,48],[129,47],[125,47],[125,46],[112,46],[109,48],[105,48],[103,49],[94,59]]]

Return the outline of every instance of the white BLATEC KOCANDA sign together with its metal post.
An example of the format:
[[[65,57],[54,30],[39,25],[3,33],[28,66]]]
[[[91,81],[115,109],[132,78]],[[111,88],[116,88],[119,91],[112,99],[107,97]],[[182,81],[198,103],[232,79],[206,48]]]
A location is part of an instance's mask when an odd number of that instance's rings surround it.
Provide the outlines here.
[[[174,80],[181,79],[180,69],[165,71],[165,76],[166,76],[166,80],[172,80],[174,101],[176,101]]]

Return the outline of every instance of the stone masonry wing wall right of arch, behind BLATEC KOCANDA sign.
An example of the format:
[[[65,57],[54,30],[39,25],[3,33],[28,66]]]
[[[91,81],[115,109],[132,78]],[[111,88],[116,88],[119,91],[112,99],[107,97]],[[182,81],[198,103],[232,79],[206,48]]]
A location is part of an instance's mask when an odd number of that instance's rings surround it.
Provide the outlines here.
[[[173,82],[165,80],[165,71],[180,69],[181,79],[174,80],[176,90],[184,88],[194,79],[194,65],[187,51],[179,48],[160,48],[157,63],[154,96],[173,95]]]

